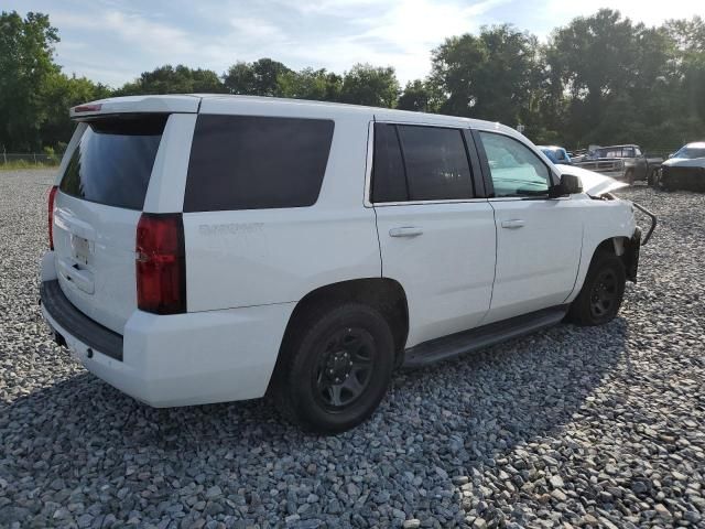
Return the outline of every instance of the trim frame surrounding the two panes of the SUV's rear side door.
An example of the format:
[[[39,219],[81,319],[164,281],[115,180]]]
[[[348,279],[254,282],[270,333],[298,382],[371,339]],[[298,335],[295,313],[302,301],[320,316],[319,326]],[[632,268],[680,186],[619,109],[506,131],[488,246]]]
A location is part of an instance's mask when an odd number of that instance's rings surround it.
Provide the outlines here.
[[[474,196],[471,198],[444,198],[444,199],[435,199],[435,201],[395,201],[395,202],[372,202],[372,161],[375,159],[375,125],[377,123],[386,123],[393,125],[397,129],[398,126],[415,126],[415,127],[433,127],[438,129],[454,129],[460,132],[460,137],[463,139],[463,144],[465,145],[465,155],[468,162],[468,169],[470,170],[470,186]],[[473,159],[473,154],[477,156],[477,151],[474,149],[475,143],[470,147],[467,141],[467,132],[470,131],[470,128],[467,125],[448,125],[448,123],[421,123],[414,121],[394,121],[394,120],[378,120],[377,118],[372,118],[368,123],[368,132],[367,132],[367,168],[365,174],[365,207],[378,207],[378,206],[402,206],[402,205],[423,205],[423,204],[462,204],[462,203],[473,203],[473,202],[487,202],[487,195],[482,193],[480,195],[480,187],[478,187],[478,181],[481,181],[481,171],[479,165],[479,158],[475,160]],[[397,133],[399,131],[397,129]],[[399,145],[402,152],[402,163],[404,165],[404,171],[406,171],[406,160],[404,158],[403,145],[401,142],[401,138],[398,137]],[[409,195],[409,180],[405,179],[406,182],[406,196]],[[482,185],[484,187],[484,185]]]

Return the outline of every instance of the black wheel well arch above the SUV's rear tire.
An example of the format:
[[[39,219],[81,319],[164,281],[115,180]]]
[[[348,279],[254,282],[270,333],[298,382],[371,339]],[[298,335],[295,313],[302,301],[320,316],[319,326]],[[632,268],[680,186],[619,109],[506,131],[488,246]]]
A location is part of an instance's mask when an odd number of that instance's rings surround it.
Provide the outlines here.
[[[326,284],[304,295],[289,319],[282,344],[286,342],[293,327],[311,311],[345,302],[365,303],[377,309],[389,323],[394,338],[397,360],[401,361],[406,336],[409,335],[409,305],[404,289],[389,278],[368,278]],[[280,365],[276,360],[276,367]],[[276,367],[274,369],[276,369]]]

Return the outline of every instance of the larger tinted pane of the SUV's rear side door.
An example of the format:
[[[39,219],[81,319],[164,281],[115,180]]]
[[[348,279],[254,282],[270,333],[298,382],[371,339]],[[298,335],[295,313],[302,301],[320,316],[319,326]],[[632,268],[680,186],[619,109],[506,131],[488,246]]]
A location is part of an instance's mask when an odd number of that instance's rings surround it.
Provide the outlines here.
[[[409,198],[443,201],[473,197],[463,132],[440,127],[398,126]]]

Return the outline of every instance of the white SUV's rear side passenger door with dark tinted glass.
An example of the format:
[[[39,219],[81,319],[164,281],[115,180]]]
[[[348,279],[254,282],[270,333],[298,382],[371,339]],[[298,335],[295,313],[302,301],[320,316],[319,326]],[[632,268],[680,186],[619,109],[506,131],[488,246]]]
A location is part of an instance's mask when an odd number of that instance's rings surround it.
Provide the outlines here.
[[[468,161],[467,147],[457,128],[373,127],[368,199],[382,276],[406,292],[408,347],[479,325],[490,305],[495,220],[475,191],[479,164]]]

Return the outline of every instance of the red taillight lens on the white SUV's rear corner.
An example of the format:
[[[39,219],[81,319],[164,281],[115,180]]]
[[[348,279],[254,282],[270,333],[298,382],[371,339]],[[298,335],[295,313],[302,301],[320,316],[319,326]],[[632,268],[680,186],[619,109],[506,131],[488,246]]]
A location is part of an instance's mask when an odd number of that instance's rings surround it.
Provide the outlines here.
[[[144,213],[137,226],[137,304],[154,314],[186,312],[181,214]]]

